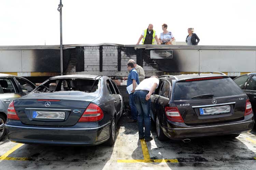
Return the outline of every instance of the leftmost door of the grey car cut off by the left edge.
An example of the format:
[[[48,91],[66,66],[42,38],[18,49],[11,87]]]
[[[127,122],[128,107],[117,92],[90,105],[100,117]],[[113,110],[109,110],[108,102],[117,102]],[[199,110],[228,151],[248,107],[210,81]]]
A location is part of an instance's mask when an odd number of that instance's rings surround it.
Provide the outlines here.
[[[0,88],[0,100],[6,109],[5,113],[7,113],[9,104],[22,95],[19,93],[15,80],[12,77],[0,77]]]

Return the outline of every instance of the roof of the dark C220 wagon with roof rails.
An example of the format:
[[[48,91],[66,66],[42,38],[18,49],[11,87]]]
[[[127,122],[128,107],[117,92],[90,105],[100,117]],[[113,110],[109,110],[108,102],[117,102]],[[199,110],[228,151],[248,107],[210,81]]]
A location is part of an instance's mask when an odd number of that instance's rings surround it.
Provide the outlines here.
[[[181,74],[181,75],[171,75],[168,77],[161,77],[161,78],[174,78],[176,80],[185,80],[185,79],[195,79],[195,78],[202,78],[202,77],[228,77],[224,74],[212,74],[212,73],[200,73],[200,74]]]

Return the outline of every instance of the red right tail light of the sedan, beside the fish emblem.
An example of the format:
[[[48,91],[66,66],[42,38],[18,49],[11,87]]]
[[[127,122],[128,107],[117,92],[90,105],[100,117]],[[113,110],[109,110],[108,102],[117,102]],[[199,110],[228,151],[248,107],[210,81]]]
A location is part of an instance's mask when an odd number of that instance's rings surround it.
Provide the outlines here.
[[[78,122],[96,122],[103,118],[101,108],[96,104],[89,104]]]

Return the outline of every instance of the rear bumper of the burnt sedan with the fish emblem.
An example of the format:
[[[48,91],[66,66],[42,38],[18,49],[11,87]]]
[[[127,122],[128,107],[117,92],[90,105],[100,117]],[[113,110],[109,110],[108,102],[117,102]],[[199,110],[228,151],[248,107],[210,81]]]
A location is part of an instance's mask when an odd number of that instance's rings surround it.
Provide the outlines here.
[[[6,133],[11,141],[53,145],[98,145],[109,139],[110,128],[111,122],[94,128],[81,128],[81,124],[72,128],[27,126],[20,121],[5,124]]]

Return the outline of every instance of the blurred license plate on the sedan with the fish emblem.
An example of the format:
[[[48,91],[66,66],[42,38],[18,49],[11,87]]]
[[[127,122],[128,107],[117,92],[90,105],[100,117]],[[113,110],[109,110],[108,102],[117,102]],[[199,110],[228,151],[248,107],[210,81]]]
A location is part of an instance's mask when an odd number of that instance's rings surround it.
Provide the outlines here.
[[[64,120],[65,112],[33,111],[32,118],[33,119]]]

